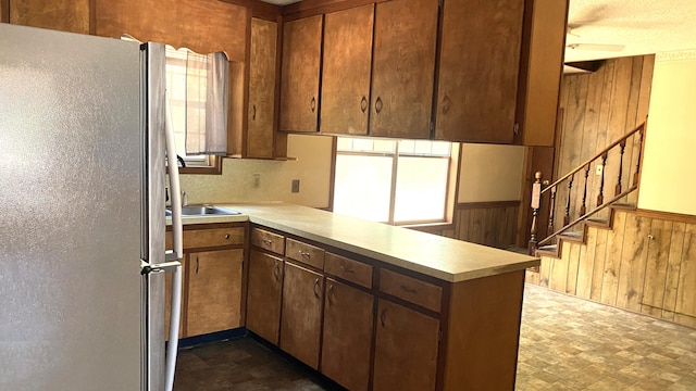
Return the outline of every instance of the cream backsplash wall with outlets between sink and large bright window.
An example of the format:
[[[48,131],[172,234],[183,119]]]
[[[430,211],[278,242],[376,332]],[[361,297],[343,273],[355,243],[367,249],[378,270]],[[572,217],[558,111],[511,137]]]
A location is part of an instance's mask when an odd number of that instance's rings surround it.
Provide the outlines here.
[[[312,207],[328,206],[331,137],[289,135],[287,154],[297,161],[224,159],[222,175],[182,175],[188,202],[228,203],[286,201]],[[253,188],[253,175],[260,175]],[[290,192],[293,179],[300,192]]]

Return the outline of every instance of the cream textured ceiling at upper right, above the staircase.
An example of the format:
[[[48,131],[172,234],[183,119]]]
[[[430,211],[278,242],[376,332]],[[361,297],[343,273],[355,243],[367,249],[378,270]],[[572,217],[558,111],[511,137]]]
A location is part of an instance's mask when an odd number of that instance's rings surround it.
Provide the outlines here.
[[[284,5],[299,0],[263,1]],[[570,0],[568,22],[568,45],[624,48],[567,49],[566,62],[696,49],[696,0]]]

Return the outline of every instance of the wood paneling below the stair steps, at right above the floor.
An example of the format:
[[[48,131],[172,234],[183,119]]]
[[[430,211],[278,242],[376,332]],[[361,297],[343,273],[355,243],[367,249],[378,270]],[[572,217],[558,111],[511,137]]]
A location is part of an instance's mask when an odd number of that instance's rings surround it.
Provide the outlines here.
[[[563,242],[527,282],[696,327],[696,224],[616,211],[613,228]]]

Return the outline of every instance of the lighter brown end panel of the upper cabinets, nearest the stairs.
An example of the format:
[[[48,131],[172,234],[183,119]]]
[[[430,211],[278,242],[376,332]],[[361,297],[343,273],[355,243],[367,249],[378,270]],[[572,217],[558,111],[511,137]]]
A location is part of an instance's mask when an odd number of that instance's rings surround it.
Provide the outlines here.
[[[519,143],[554,147],[568,0],[527,1],[520,72]]]

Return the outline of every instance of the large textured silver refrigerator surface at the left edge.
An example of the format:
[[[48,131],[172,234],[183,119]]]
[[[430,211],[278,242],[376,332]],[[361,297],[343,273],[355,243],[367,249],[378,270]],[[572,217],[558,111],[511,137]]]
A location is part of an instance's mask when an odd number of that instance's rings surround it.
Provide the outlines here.
[[[138,390],[138,45],[0,24],[0,390]]]

